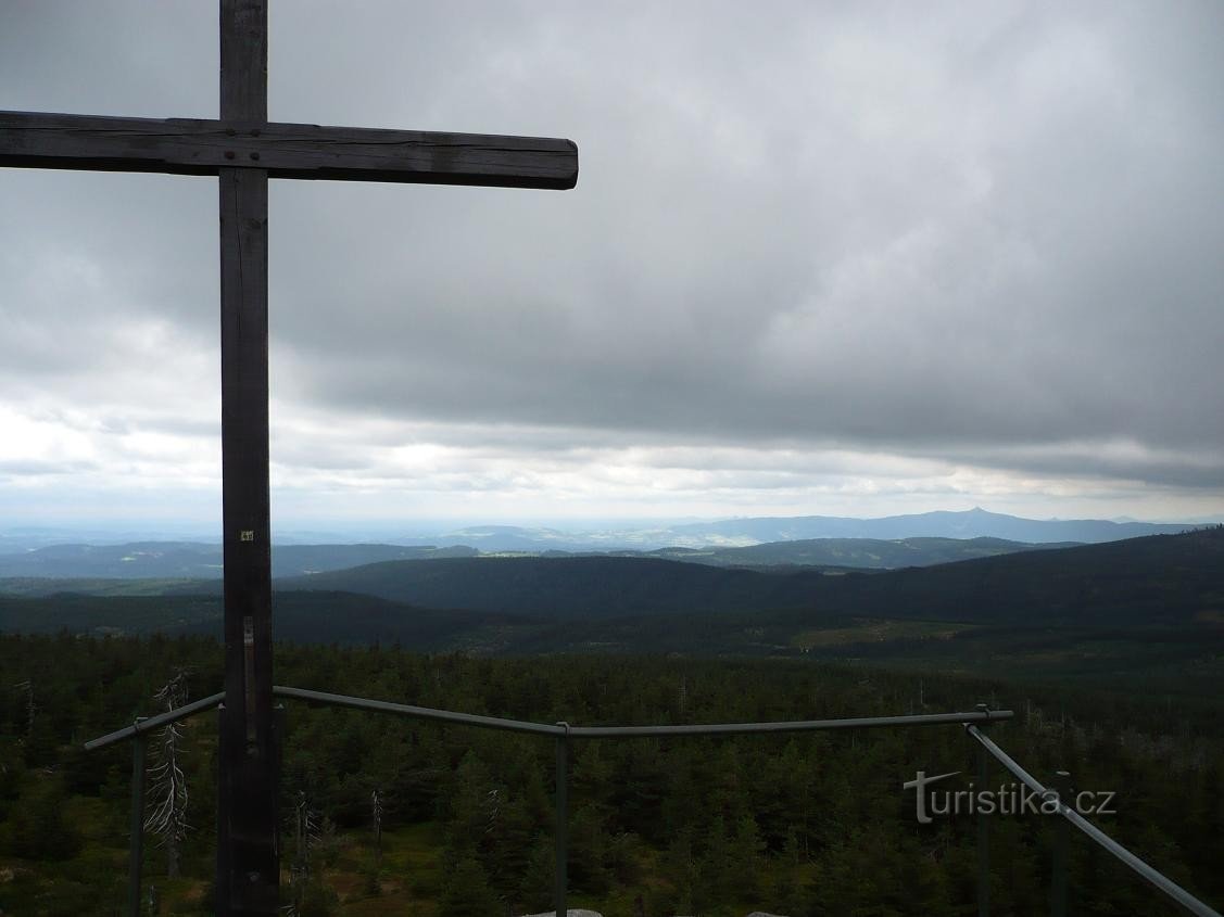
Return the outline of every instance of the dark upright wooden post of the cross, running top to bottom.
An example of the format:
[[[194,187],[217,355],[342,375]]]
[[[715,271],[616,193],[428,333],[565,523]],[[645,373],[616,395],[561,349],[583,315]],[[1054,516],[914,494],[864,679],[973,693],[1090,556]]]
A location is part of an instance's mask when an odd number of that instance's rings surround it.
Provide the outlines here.
[[[258,136],[268,121],[266,0],[222,0],[220,120]],[[236,159],[236,152],[226,152]],[[255,158],[258,153],[247,153]],[[279,906],[272,735],[268,496],[268,172],[228,166],[220,185],[222,516],[225,715],[217,794],[217,912]]]

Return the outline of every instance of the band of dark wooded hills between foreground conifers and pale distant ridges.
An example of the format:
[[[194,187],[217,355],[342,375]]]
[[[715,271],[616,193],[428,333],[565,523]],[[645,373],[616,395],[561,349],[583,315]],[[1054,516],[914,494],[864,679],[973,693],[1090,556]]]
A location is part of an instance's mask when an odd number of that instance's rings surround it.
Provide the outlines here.
[[[155,581],[132,581],[152,588]],[[218,581],[24,594],[0,631],[220,636]],[[7,592],[9,594],[4,594]],[[58,594],[53,594],[53,592]],[[1086,677],[1200,696],[1224,679],[1224,528],[891,572],[761,572],[630,558],[397,561],[280,580],[278,639],[477,655],[810,654]]]

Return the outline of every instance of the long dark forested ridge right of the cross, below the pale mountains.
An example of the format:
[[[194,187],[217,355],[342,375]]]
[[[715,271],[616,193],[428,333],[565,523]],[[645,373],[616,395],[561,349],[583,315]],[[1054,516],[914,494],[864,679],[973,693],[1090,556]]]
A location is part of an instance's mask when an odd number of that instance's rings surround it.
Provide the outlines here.
[[[793,609],[982,622],[1224,619],[1224,528],[884,573],[764,573],[630,558],[392,561],[291,577],[280,589],[559,619]]]

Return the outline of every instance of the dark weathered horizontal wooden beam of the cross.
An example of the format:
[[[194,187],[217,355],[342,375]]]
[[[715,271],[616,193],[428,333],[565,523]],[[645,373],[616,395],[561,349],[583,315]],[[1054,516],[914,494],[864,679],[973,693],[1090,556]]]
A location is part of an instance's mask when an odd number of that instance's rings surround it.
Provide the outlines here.
[[[551,137],[0,111],[0,166],[175,175],[247,168],[271,179],[564,191],[578,183],[578,147]]]

